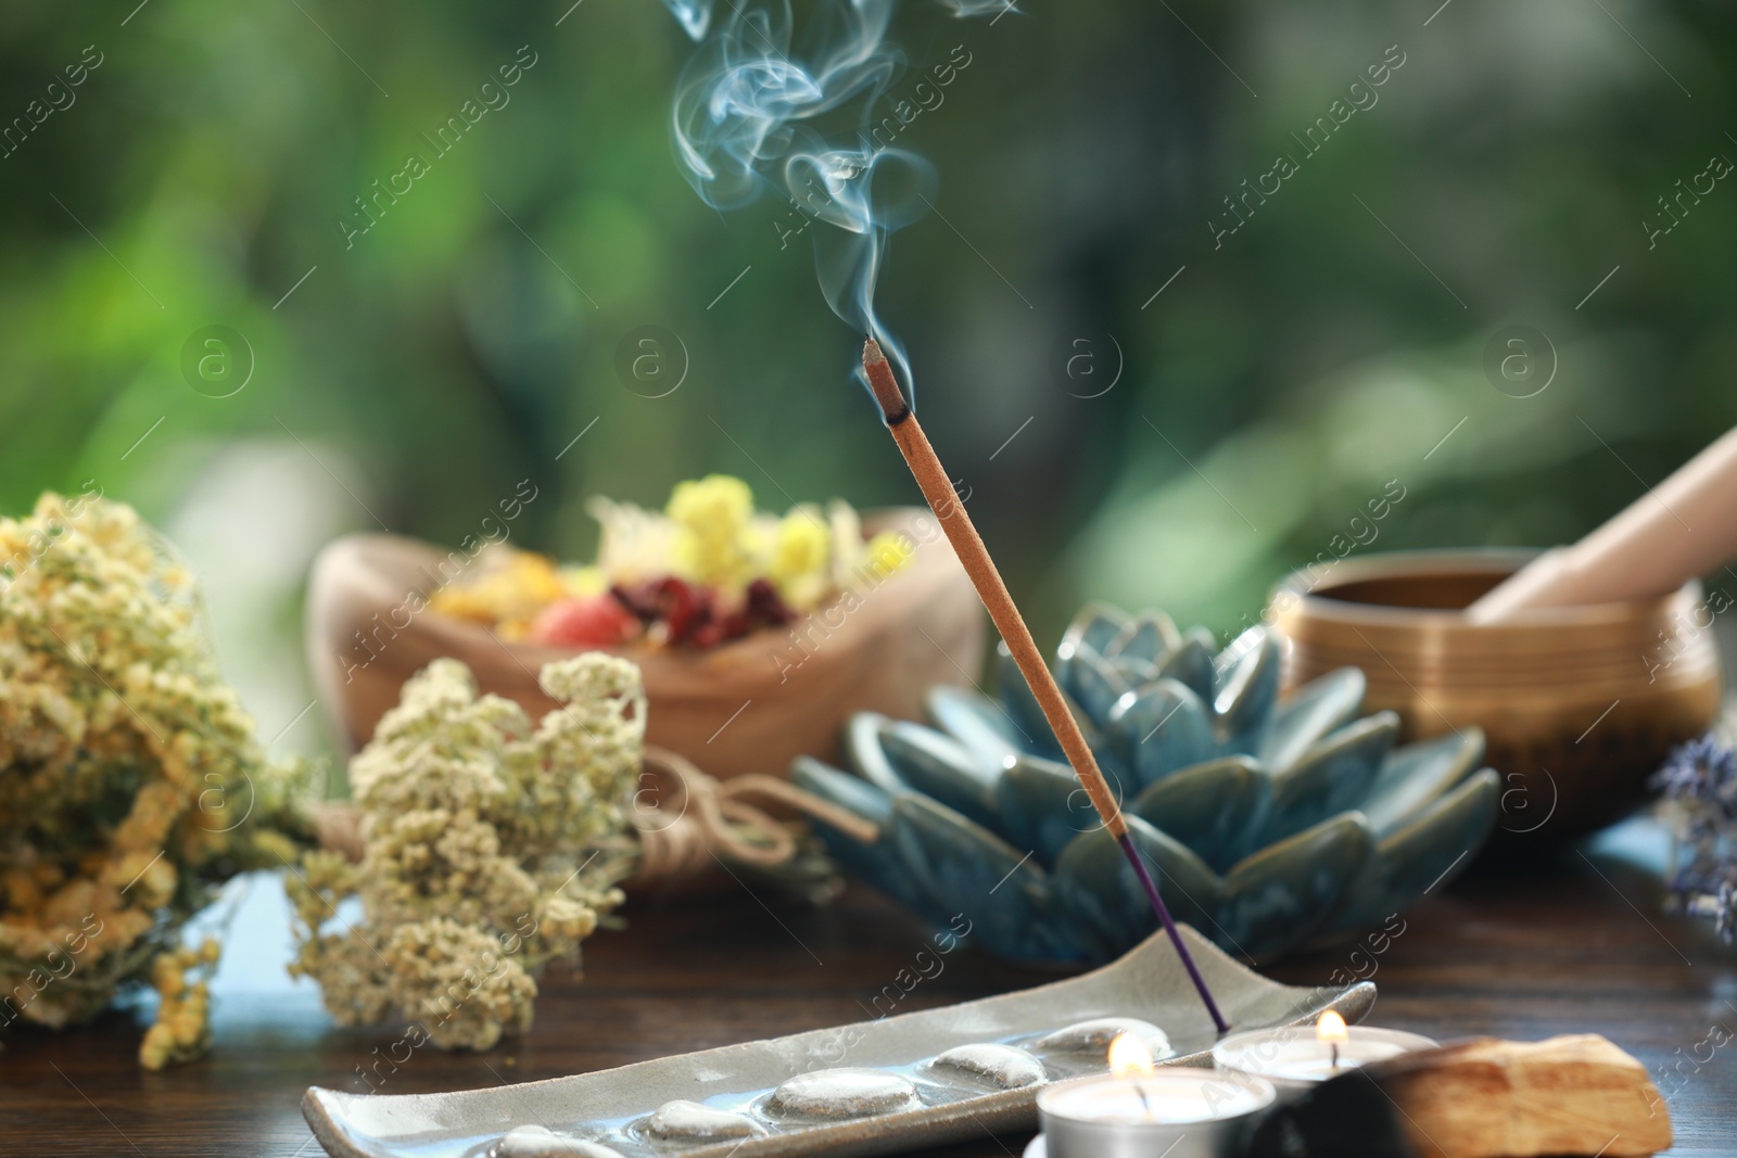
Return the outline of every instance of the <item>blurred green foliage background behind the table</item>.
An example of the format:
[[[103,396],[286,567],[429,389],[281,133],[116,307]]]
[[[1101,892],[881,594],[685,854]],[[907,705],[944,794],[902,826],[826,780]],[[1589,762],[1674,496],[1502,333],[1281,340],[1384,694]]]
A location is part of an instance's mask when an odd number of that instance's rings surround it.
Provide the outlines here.
[[[721,217],[677,174],[693,45],[662,3],[135,3],[0,10],[0,503],[96,479],[163,526],[280,747],[323,743],[301,606],[334,535],[457,542],[526,477],[516,542],[570,557],[587,495],[707,470],[775,509],[917,500],[789,208]],[[1438,5],[900,12],[891,95],[971,63],[900,137],[938,212],[879,302],[1040,639],[1086,597],[1235,630],[1393,479],[1358,550],[1569,540],[1737,420],[1737,182],[1643,224],[1737,158],[1737,17]],[[431,170],[346,240],[413,151]],[[1280,153],[1298,172],[1219,236]],[[1532,398],[1483,370],[1515,323],[1555,349]],[[207,326],[252,352],[226,398],[182,370]],[[665,398],[617,373],[641,326],[686,351]]]

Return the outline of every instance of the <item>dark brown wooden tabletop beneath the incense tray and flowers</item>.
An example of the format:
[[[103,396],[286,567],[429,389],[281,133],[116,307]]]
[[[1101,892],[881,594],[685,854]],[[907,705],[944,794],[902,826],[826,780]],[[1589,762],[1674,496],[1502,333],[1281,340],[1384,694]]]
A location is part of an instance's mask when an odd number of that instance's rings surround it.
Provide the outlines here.
[[[1633,825],[1629,837],[1648,837]],[[1374,1021],[1438,1038],[1542,1038],[1598,1031],[1661,1082],[1676,1122],[1673,1155],[1737,1153],[1737,950],[1657,911],[1659,884],[1612,840],[1530,863],[1482,861],[1405,913],[1379,957],[1355,946],[1270,967],[1318,984],[1334,970],[1381,988]],[[664,1054],[858,1021],[924,944],[924,927],[867,889],[827,910],[735,885],[705,899],[631,908],[631,927],[587,943],[585,977],[549,977],[535,1030],[490,1054],[424,1047],[386,1094],[526,1082]],[[363,1089],[358,1066],[398,1038],[335,1030],[311,986],[290,984],[281,891],[254,882],[231,938],[214,1052],[144,1073],[139,1030],[111,1012],[69,1033],[0,1035],[0,1153],[137,1158],[320,1153],[297,1101],[318,1083]],[[1023,988],[1051,974],[974,953],[947,958],[907,1009]],[[1699,1049],[1697,1049],[1699,1047]],[[382,1066],[382,1073],[386,1068]],[[1666,1078],[1664,1075],[1674,1076]],[[1025,1137],[981,1139],[947,1158],[1018,1155]]]

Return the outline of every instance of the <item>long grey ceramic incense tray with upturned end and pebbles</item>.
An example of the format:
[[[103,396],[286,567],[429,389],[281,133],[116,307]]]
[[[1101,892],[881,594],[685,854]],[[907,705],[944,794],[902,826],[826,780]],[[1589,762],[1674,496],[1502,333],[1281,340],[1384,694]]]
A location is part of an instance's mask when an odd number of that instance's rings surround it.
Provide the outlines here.
[[[1358,1021],[1374,1005],[1372,983],[1284,986],[1183,934],[1235,1030],[1313,1023],[1325,1009]],[[313,1087],[302,1113],[340,1158],[886,1155],[1035,1128],[1037,1090],[1103,1073],[1126,1030],[1166,1064],[1211,1064],[1212,1023],[1162,934],[1021,993],[485,1090]]]

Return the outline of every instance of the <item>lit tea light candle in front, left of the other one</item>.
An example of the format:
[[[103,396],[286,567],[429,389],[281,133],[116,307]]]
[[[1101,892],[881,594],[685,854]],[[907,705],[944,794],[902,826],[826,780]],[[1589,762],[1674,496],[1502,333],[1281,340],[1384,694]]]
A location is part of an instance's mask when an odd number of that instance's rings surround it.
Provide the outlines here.
[[[1044,1134],[1037,1158],[1218,1158],[1233,1151],[1249,1116],[1271,1106],[1271,1082],[1172,1066],[1124,1033],[1110,1045],[1110,1073],[1075,1078],[1037,1095]]]

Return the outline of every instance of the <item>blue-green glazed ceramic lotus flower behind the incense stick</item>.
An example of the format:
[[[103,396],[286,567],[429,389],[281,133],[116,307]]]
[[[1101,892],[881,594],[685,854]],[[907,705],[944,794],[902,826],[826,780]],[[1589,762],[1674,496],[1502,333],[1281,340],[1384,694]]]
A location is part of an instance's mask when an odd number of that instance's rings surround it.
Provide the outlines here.
[[[1499,780],[1464,729],[1395,748],[1398,717],[1360,715],[1364,674],[1278,696],[1278,639],[1254,627],[1214,656],[1205,628],[1086,608],[1056,679],[1178,920],[1270,958],[1381,924],[1463,870]],[[1157,918],[1001,649],[1002,701],[933,688],[933,727],[858,714],[851,773],[801,757],[792,780],[879,828],[816,825],[841,866],[994,953],[1106,962]],[[853,774],[855,773],[855,774]]]

